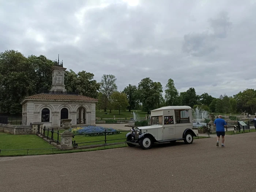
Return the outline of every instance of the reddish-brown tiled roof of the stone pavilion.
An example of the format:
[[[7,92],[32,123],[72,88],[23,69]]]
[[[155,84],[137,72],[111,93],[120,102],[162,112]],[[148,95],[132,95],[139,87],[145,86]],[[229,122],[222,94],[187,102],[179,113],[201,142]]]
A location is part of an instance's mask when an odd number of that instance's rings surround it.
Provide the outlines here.
[[[69,95],[69,94],[47,94],[40,93],[38,95],[32,95],[26,97],[25,99],[49,99],[49,100],[73,100],[73,101],[98,101],[98,99],[94,99],[91,97],[86,97],[83,95]]]

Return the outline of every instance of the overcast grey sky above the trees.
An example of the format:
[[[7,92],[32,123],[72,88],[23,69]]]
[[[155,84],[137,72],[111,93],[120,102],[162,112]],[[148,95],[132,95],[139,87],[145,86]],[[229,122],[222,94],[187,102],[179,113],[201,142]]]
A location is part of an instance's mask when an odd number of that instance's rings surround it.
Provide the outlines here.
[[[256,0],[0,0],[0,52],[219,97],[256,87]]]

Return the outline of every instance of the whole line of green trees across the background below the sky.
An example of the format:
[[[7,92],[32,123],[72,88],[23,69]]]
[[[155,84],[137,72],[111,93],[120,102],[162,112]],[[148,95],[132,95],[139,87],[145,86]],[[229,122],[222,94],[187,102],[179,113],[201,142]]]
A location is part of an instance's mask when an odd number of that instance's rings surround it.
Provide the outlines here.
[[[49,90],[52,85],[51,68],[54,61],[44,55],[25,57],[15,50],[0,53],[0,112],[20,114],[20,102],[24,97]],[[221,95],[214,98],[208,93],[197,95],[191,87],[185,92],[178,92],[174,81],[169,78],[165,86],[165,97],[160,82],[143,78],[138,86],[129,84],[123,91],[118,91],[116,77],[103,74],[101,81],[93,79],[94,74],[86,71],[65,72],[65,85],[69,92],[97,98],[98,110],[142,110],[150,111],[167,105],[188,105],[219,114],[256,111],[256,90],[246,89],[236,95]]]

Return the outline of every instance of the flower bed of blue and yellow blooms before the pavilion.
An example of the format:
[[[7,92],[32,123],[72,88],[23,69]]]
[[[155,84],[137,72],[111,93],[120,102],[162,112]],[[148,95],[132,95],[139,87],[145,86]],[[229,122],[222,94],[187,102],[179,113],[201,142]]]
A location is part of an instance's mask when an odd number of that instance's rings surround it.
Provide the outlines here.
[[[74,128],[69,129],[69,131],[74,134],[95,133],[95,134],[83,135],[85,137],[94,137],[94,136],[105,135],[105,130],[107,132],[112,132],[112,133],[106,133],[107,135],[116,135],[116,134],[121,133],[114,128],[104,128],[104,127],[100,127],[100,126],[74,127]],[[115,131],[118,131],[118,132],[115,132]]]

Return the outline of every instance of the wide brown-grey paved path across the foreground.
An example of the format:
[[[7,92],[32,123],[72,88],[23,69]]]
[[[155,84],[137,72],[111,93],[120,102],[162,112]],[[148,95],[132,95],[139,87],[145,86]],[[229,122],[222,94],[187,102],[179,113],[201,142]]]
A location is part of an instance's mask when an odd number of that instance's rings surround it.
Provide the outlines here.
[[[256,133],[196,139],[192,145],[125,147],[0,158],[1,192],[252,192]]]

